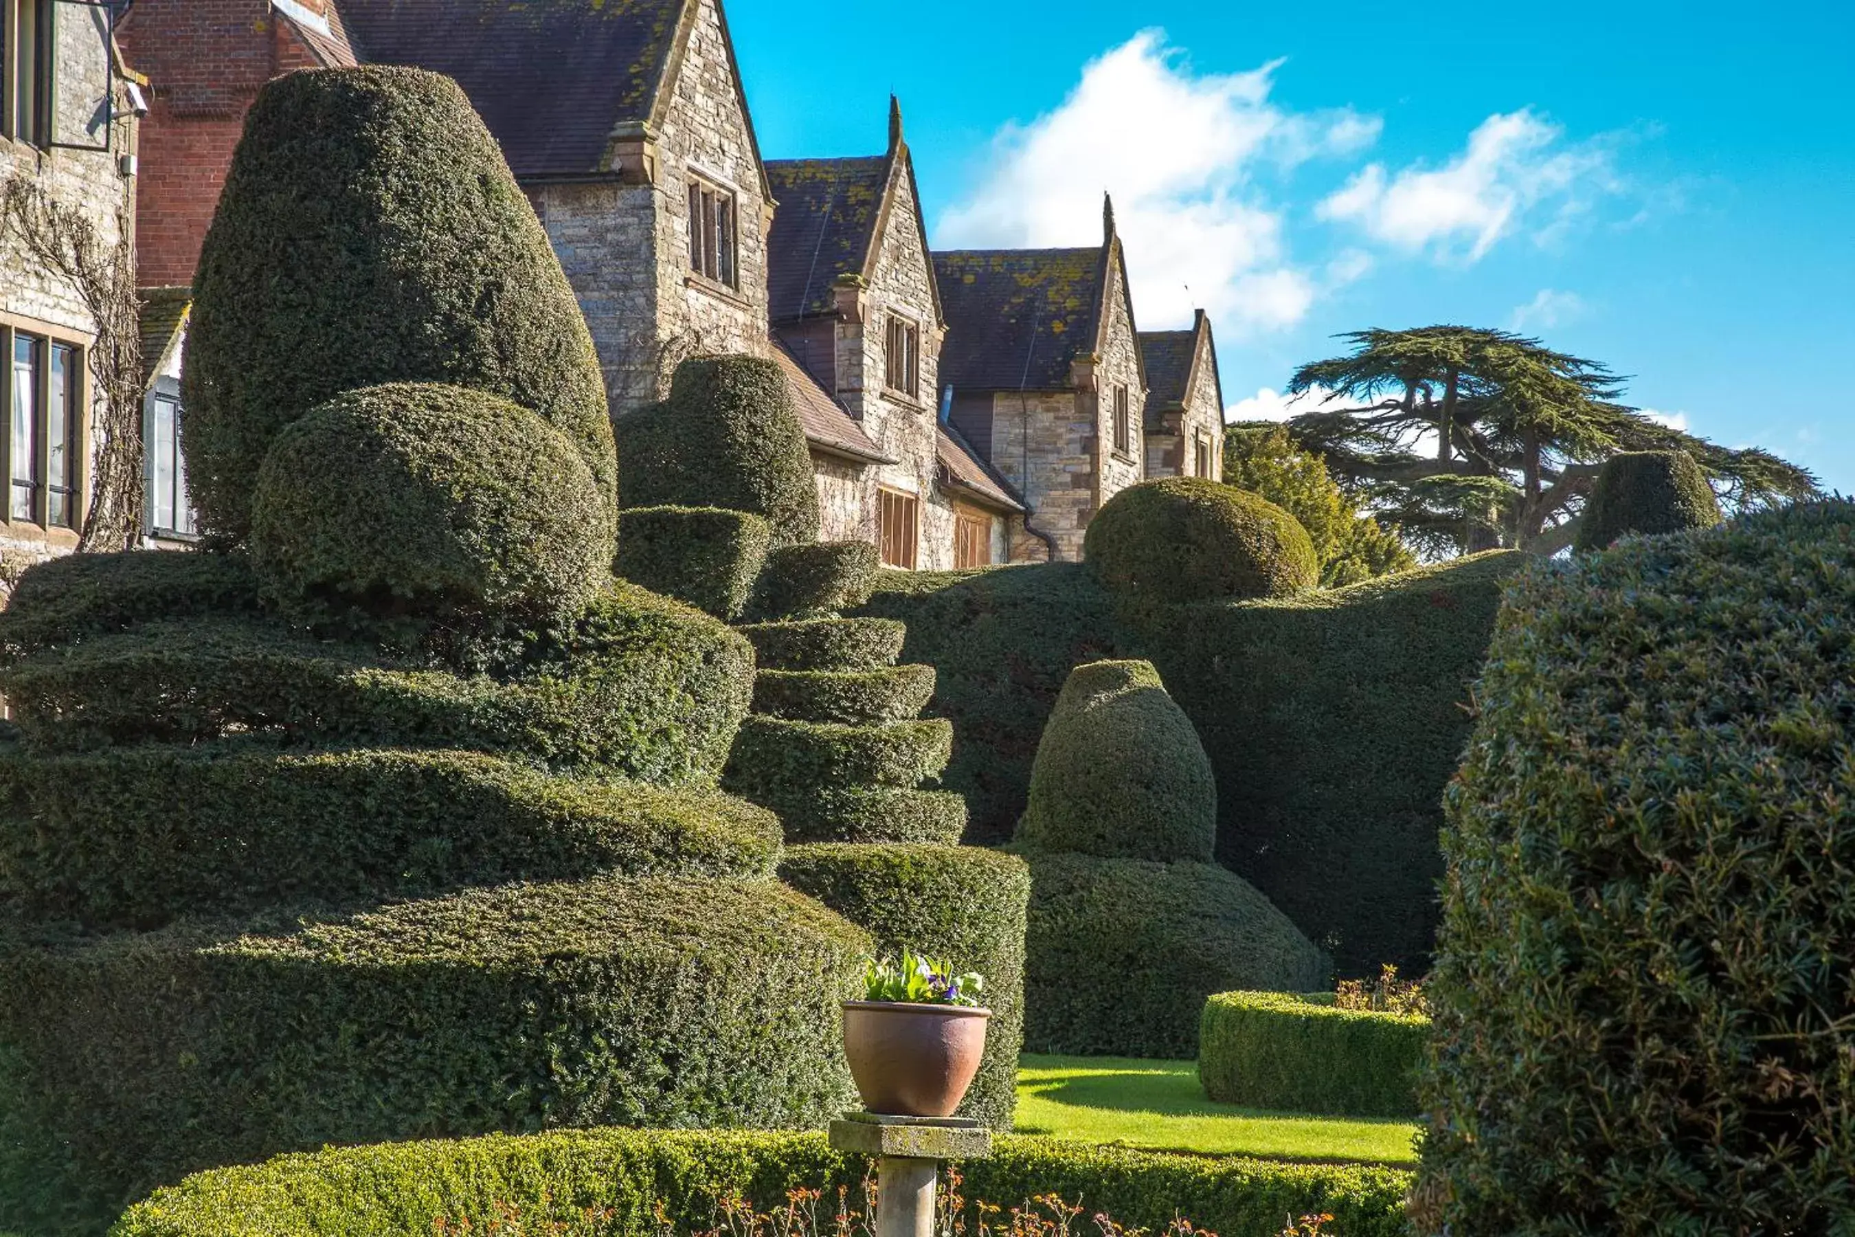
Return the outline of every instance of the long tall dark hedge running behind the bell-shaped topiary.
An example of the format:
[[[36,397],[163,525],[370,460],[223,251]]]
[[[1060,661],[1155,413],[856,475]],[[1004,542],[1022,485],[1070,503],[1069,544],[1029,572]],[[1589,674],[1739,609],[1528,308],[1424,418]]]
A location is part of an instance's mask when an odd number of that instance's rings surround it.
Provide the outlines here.
[[[1145,657],[1211,757],[1219,862],[1345,974],[1423,972],[1443,786],[1503,580],[1523,564],[1477,555],[1334,592],[1124,618],[1078,564],[885,571],[859,614],[905,621],[903,658],[939,673],[928,712],[955,727],[946,784],[972,805],[968,840],[1011,836],[1070,670]]]

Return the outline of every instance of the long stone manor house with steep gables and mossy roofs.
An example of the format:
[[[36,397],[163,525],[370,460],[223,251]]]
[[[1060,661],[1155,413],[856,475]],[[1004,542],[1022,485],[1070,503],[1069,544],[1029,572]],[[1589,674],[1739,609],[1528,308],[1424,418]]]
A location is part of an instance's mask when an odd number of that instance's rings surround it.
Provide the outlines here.
[[[0,0],[0,169],[26,163],[98,221],[135,230],[152,543],[193,530],[178,454],[187,289],[245,111],[280,72],[354,63],[462,83],[579,295],[614,415],[657,399],[688,356],[751,352],[785,369],[827,540],[872,540],[898,567],[1076,560],[1119,490],[1221,475],[1211,325],[1200,313],[1189,330],[1137,330],[1111,206],[1094,247],[931,252],[894,100],[881,154],[761,158],[720,0]],[[83,48],[67,33],[78,13],[93,19]],[[109,143],[50,141],[67,113],[78,124],[80,96],[104,95],[122,100],[96,113]],[[28,96],[45,139],[6,128]],[[9,261],[20,258],[0,250],[0,273]],[[37,367],[15,362],[30,376],[7,388],[30,386],[33,402],[0,404],[13,427],[0,441],[37,469],[13,464],[13,510],[39,519],[15,514],[9,530],[46,545],[74,540],[58,495],[82,495],[89,406],[83,317],[56,300],[0,286],[0,345],[48,349]],[[54,425],[39,410],[56,373],[74,375],[58,388],[74,412]],[[59,427],[70,440],[50,458]]]

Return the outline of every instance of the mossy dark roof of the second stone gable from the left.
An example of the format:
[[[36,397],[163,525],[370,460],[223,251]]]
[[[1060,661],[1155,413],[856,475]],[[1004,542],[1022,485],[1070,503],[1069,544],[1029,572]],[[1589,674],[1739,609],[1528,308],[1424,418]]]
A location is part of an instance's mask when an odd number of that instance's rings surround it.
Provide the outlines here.
[[[902,104],[889,98],[889,152],[855,159],[775,159],[766,165],[779,210],[766,239],[770,306],[775,323],[837,308],[833,284],[876,278],[883,232],[900,200],[902,178],[915,200],[915,236],[928,254],[915,156],[902,139]],[[928,260],[928,291],[940,321],[940,289]]]

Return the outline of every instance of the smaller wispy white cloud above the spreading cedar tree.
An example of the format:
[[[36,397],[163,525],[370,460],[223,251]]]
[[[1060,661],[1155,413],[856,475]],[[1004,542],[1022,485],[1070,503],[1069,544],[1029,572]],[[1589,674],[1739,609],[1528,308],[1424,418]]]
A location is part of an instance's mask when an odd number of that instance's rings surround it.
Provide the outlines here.
[[[1412,165],[1393,174],[1371,163],[1315,213],[1356,224],[1393,249],[1469,261],[1521,228],[1543,243],[1595,195],[1621,187],[1612,139],[1566,143],[1564,135],[1530,108],[1497,113],[1443,167]]]

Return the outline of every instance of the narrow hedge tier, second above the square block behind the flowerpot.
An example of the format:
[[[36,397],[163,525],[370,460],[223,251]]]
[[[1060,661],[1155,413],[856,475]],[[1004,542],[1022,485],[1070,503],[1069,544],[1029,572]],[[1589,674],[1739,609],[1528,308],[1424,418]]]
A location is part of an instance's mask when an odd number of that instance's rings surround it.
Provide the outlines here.
[[[827,725],[748,718],[722,784],[755,803],[838,786],[920,786],[946,768],[953,725],[937,718]]]

